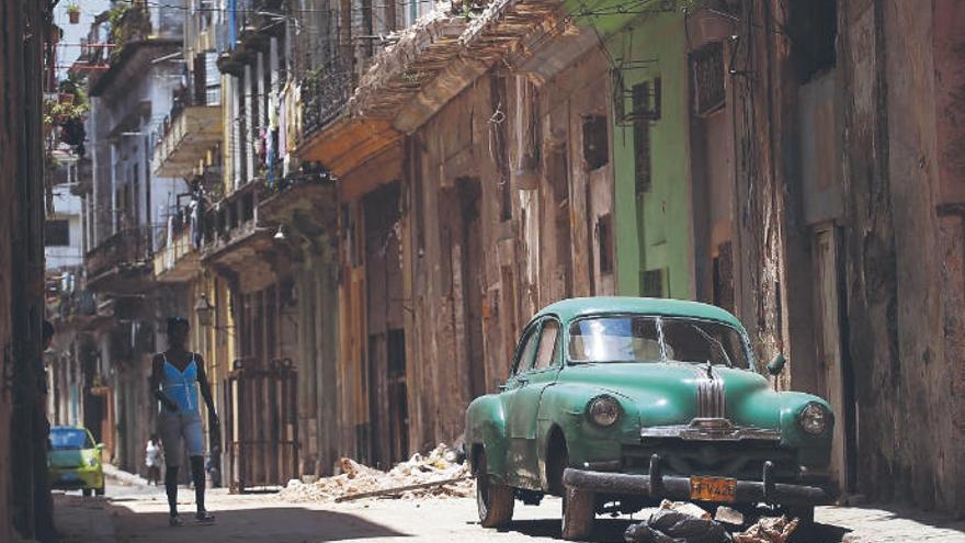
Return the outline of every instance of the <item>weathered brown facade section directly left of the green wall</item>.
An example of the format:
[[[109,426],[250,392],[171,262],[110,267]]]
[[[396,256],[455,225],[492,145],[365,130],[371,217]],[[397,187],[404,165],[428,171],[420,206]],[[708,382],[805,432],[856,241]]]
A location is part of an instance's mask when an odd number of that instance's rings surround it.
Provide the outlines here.
[[[608,113],[601,60],[592,49],[548,80],[491,71],[409,138],[413,450],[462,434],[465,407],[506,380],[536,310],[615,290],[597,226],[612,216],[612,170],[591,169],[582,140],[583,120]]]

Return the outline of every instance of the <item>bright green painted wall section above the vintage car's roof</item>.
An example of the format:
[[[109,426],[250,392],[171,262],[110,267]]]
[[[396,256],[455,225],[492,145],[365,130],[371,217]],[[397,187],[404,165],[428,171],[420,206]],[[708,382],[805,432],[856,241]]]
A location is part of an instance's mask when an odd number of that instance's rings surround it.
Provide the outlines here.
[[[572,8],[575,12],[579,9]],[[594,10],[599,9],[594,5]],[[617,292],[640,295],[642,272],[662,269],[665,295],[693,298],[683,12],[577,18],[577,22],[597,27],[615,61],[637,61],[631,69],[622,70],[627,92],[638,82],[661,80],[661,116],[650,124],[648,192],[637,194],[634,128],[616,123],[613,116]],[[640,64],[642,60],[652,61]],[[625,103],[625,111],[631,111],[628,98]]]

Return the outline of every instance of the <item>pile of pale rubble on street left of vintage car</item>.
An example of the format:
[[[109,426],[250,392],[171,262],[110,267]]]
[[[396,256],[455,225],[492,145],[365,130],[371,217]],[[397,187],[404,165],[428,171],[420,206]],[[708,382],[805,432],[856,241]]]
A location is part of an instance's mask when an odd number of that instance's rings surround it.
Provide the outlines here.
[[[415,454],[388,472],[351,459],[339,461],[341,473],[313,483],[292,479],[280,497],[286,501],[347,501],[360,498],[468,497],[476,490],[469,466],[440,444],[427,455]]]

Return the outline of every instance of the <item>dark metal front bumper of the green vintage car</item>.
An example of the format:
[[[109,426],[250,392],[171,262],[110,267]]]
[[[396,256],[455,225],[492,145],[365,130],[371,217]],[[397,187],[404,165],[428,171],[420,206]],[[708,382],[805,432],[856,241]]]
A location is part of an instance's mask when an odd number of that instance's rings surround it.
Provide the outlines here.
[[[761,480],[738,479],[735,502],[763,501],[791,506],[820,506],[833,500],[831,493],[819,486],[776,483],[772,472],[773,464],[765,462]],[[650,457],[650,470],[647,475],[567,468],[563,473],[563,483],[567,487],[605,495],[691,500],[690,477],[663,476],[660,457],[656,454]]]

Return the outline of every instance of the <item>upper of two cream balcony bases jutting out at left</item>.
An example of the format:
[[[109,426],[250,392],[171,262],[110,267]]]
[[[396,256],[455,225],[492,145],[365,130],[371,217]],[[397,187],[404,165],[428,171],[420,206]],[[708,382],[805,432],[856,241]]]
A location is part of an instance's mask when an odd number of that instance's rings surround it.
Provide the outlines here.
[[[222,106],[188,105],[155,147],[154,170],[162,178],[188,178],[222,140]]]

